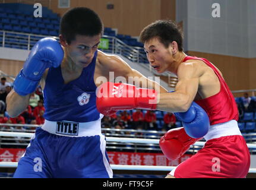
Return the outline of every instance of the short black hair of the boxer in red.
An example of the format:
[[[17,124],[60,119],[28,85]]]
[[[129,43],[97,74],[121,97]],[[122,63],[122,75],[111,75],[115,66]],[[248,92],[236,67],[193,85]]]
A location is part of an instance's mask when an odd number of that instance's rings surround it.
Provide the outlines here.
[[[145,27],[140,33],[142,43],[148,42],[154,37],[157,37],[166,48],[175,41],[178,44],[179,51],[183,51],[182,31],[171,20],[157,20]]]

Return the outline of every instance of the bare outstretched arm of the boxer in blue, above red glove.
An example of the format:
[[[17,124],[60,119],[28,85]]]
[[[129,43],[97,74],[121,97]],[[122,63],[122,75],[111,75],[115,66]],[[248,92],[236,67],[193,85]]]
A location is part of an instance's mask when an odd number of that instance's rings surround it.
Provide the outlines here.
[[[150,80],[147,77],[145,77],[143,74],[138,72],[137,70],[132,69],[131,66],[129,66],[127,62],[125,62],[119,56],[106,55],[105,53],[100,52],[99,59],[100,59],[99,60],[100,64],[107,66],[109,72],[114,72],[115,80],[116,80],[115,83],[119,83],[119,81],[117,81],[118,79],[122,80],[122,78],[124,78],[126,81],[120,81],[120,82],[132,84],[138,88],[154,89],[157,91],[157,93],[167,92],[167,90],[163,88],[156,81]],[[110,81],[110,82],[114,82],[114,81]]]

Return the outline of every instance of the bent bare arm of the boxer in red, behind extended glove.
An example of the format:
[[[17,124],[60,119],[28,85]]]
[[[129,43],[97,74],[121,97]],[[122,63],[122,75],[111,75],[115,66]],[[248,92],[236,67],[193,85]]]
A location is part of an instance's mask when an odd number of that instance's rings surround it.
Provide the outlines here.
[[[160,93],[157,110],[187,112],[198,91],[201,69],[193,62],[185,62],[178,69],[178,83],[173,93]]]

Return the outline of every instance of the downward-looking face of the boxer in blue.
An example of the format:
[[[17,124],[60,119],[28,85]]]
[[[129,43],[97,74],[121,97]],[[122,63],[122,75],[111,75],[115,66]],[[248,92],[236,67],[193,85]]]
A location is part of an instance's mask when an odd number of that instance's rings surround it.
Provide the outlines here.
[[[86,67],[93,59],[100,43],[101,34],[96,36],[78,35],[69,45],[66,45],[67,57],[78,67]]]

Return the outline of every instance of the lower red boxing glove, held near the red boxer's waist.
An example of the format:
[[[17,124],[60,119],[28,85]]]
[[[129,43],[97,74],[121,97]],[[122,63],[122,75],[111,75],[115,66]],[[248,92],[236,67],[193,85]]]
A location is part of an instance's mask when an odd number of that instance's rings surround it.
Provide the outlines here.
[[[190,145],[201,139],[189,137],[185,129],[181,127],[167,131],[160,138],[159,145],[167,159],[177,160],[190,148]]]

